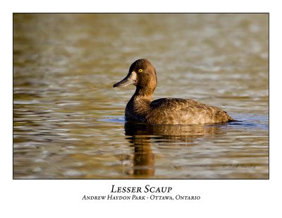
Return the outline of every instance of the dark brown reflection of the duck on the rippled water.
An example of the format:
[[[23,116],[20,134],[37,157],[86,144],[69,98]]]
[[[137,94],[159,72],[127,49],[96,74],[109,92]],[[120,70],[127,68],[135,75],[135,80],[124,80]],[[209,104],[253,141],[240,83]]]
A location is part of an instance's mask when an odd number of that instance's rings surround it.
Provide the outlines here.
[[[137,123],[135,121],[125,122],[125,135],[128,135],[130,145],[134,147],[131,156],[123,156],[122,162],[130,162],[130,169],[126,174],[142,176],[154,176],[154,153],[152,144],[170,143],[170,145],[192,146],[193,139],[204,138],[209,135],[226,134],[228,124],[211,125],[156,125],[148,123]]]

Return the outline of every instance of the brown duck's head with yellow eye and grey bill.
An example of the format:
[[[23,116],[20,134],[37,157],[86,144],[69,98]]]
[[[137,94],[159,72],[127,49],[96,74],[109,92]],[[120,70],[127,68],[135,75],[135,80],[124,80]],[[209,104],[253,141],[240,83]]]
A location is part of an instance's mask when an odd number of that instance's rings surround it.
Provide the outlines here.
[[[154,92],[157,86],[156,69],[147,59],[139,59],[131,64],[128,75],[114,87],[125,87],[133,84],[139,90]]]

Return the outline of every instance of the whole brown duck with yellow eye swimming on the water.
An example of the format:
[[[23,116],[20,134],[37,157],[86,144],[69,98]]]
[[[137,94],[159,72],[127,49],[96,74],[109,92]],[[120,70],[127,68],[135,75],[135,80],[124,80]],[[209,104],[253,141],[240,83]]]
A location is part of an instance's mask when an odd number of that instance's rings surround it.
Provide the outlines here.
[[[157,73],[147,59],[131,64],[128,75],[114,87],[135,85],[136,90],[125,107],[126,121],[151,124],[205,124],[235,121],[226,111],[193,99],[161,98],[152,101]]]

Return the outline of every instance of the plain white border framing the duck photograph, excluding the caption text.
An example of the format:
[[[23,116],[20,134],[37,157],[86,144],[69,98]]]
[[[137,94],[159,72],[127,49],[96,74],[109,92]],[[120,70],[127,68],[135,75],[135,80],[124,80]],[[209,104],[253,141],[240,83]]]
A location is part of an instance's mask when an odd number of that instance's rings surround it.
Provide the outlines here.
[[[269,217],[281,214],[281,6],[269,1],[9,1],[1,6],[1,205],[8,217]],[[13,180],[13,12],[270,12],[270,180]],[[281,133],[280,133],[281,135]],[[199,202],[83,202],[82,195],[107,194],[117,186],[172,186],[200,195]]]

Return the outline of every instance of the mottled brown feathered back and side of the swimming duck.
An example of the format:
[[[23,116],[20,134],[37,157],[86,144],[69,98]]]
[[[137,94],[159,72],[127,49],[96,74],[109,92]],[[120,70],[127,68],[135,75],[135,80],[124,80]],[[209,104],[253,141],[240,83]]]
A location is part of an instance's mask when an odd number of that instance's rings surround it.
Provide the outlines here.
[[[233,121],[226,111],[192,99],[161,98],[150,104],[148,123],[197,124]]]

